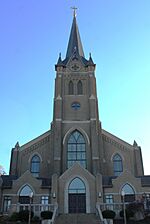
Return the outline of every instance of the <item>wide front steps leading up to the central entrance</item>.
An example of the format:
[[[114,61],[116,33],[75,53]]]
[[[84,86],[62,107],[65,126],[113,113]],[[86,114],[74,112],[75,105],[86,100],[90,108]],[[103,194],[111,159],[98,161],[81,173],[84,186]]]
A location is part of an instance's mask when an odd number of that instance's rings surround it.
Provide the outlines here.
[[[101,224],[101,222],[95,214],[77,213],[59,215],[55,224]]]

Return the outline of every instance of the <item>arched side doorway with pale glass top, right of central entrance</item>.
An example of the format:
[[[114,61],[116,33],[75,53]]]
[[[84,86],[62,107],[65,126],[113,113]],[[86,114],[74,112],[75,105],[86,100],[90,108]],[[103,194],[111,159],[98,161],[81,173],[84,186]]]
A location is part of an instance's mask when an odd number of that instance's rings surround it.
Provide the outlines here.
[[[121,191],[124,191],[125,193],[125,196],[124,196],[125,202],[135,201],[135,191],[130,184],[125,184]]]

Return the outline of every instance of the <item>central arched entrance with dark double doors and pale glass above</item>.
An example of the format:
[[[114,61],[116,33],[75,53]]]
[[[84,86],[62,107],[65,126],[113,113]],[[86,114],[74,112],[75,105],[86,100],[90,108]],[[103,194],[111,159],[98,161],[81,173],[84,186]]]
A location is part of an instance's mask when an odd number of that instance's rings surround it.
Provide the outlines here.
[[[69,213],[86,213],[86,188],[80,178],[75,178],[68,189]]]

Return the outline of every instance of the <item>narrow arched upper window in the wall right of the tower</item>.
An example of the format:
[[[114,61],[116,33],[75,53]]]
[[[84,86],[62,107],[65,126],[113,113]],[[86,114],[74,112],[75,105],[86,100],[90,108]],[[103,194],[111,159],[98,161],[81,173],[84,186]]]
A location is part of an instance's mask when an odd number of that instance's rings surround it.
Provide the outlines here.
[[[114,175],[119,176],[123,172],[122,158],[119,154],[113,157]]]

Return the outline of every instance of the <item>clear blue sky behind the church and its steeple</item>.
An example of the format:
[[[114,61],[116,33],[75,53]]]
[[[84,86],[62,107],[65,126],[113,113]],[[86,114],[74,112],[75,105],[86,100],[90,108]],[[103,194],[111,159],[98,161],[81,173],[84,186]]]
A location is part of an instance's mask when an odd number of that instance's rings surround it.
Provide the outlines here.
[[[71,6],[96,63],[103,129],[142,147],[150,174],[150,1],[0,1],[0,164],[11,148],[50,128],[54,65],[65,57]]]

